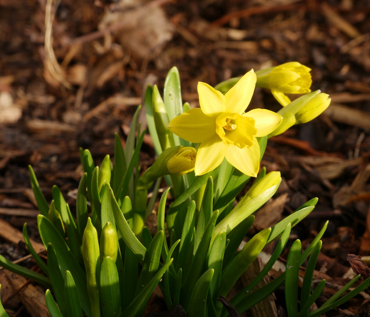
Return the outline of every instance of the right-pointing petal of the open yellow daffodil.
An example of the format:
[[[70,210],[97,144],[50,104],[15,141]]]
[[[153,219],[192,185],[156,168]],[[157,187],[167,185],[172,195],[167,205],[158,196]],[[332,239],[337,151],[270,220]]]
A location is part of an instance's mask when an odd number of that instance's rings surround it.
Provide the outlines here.
[[[256,136],[265,136],[279,127],[283,117],[267,109],[253,109],[243,114],[243,117],[255,119]]]

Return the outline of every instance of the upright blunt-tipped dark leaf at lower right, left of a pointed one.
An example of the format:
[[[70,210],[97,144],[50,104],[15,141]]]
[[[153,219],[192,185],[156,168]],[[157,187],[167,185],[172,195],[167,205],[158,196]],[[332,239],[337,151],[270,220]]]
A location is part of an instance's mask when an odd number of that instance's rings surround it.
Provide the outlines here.
[[[288,317],[298,316],[298,274],[301,242],[295,240],[290,247],[285,270],[285,302]]]

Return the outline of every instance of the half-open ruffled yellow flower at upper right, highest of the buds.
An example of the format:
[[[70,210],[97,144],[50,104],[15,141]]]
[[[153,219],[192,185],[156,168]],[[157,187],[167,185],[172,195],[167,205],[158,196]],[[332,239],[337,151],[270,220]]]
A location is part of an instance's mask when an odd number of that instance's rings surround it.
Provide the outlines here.
[[[276,67],[256,71],[256,87],[269,88],[285,94],[307,94],[311,92],[311,68],[298,62],[289,62]]]

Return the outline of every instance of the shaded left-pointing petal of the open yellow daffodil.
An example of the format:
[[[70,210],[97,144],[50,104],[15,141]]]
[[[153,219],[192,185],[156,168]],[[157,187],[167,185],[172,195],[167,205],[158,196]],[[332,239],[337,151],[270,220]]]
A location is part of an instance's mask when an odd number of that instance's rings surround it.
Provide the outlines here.
[[[215,119],[203,114],[201,108],[190,109],[173,118],[170,131],[186,141],[200,143],[216,135]]]

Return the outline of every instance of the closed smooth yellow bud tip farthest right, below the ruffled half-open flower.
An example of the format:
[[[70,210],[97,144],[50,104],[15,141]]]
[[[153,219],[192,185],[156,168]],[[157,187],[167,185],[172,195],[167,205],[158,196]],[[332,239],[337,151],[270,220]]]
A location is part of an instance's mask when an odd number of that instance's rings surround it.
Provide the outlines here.
[[[320,115],[329,107],[331,99],[323,92],[313,97],[296,113],[296,124],[306,123]]]

